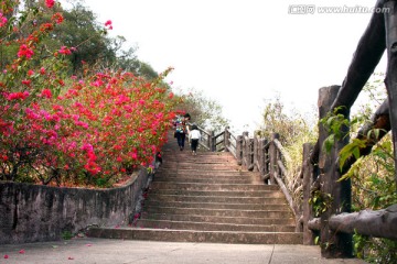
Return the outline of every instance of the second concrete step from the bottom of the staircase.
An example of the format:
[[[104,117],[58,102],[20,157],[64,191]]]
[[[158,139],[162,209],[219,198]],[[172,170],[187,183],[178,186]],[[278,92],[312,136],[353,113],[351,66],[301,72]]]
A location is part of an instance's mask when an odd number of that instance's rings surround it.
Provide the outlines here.
[[[243,231],[243,232],[294,232],[294,226],[290,224],[233,224],[218,222],[191,222],[141,219],[135,228],[149,229],[175,229],[175,230],[202,230],[202,231]]]

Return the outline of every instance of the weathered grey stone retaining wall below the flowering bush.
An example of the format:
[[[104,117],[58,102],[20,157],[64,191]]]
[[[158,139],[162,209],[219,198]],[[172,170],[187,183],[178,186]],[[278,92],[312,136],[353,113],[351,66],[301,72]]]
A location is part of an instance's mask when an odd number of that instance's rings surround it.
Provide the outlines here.
[[[0,183],[0,244],[58,240],[95,224],[127,224],[148,176],[142,168],[128,185],[99,190]]]

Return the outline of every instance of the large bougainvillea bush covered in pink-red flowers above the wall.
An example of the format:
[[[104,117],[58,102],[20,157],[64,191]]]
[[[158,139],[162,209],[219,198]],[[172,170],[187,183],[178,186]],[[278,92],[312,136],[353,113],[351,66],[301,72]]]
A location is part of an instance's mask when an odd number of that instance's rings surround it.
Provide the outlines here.
[[[171,69],[151,81],[110,69],[67,76],[78,47],[41,45],[63,22],[54,4],[17,12],[18,1],[1,1],[0,45],[17,48],[0,74],[0,180],[111,186],[165,143],[176,103],[163,84]],[[51,21],[25,34],[41,13]]]

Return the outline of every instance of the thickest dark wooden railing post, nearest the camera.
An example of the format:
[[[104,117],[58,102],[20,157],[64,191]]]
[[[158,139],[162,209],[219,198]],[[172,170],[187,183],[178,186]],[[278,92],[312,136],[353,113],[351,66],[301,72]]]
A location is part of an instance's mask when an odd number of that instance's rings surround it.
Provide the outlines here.
[[[331,106],[336,98],[340,86],[330,86],[321,88],[319,91],[319,117],[325,118]],[[348,118],[348,109],[343,109],[345,117]],[[344,128],[345,130],[346,128]],[[347,133],[346,131],[343,131]],[[334,232],[329,227],[329,219],[332,215],[350,212],[351,210],[351,180],[337,182],[341,177],[336,164],[337,155],[341,148],[348,142],[348,136],[336,140],[331,152],[323,147],[325,139],[330,135],[326,129],[320,123],[319,143],[320,143],[320,186],[321,195],[328,205],[326,210],[321,215],[321,254],[324,257],[351,257],[353,253],[352,235],[341,232]],[[329,199],[329,196],[332,198]]]

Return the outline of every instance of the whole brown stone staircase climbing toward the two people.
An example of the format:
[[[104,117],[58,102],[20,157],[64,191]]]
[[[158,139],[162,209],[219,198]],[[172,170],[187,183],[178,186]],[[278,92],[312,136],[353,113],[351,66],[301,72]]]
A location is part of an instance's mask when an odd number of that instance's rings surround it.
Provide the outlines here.
[[[243,172],[229,153],[180,151],[170,139],[163,164],[131,227],[92,228],[89,237],[173,242],[302,244],[278,186]]]

